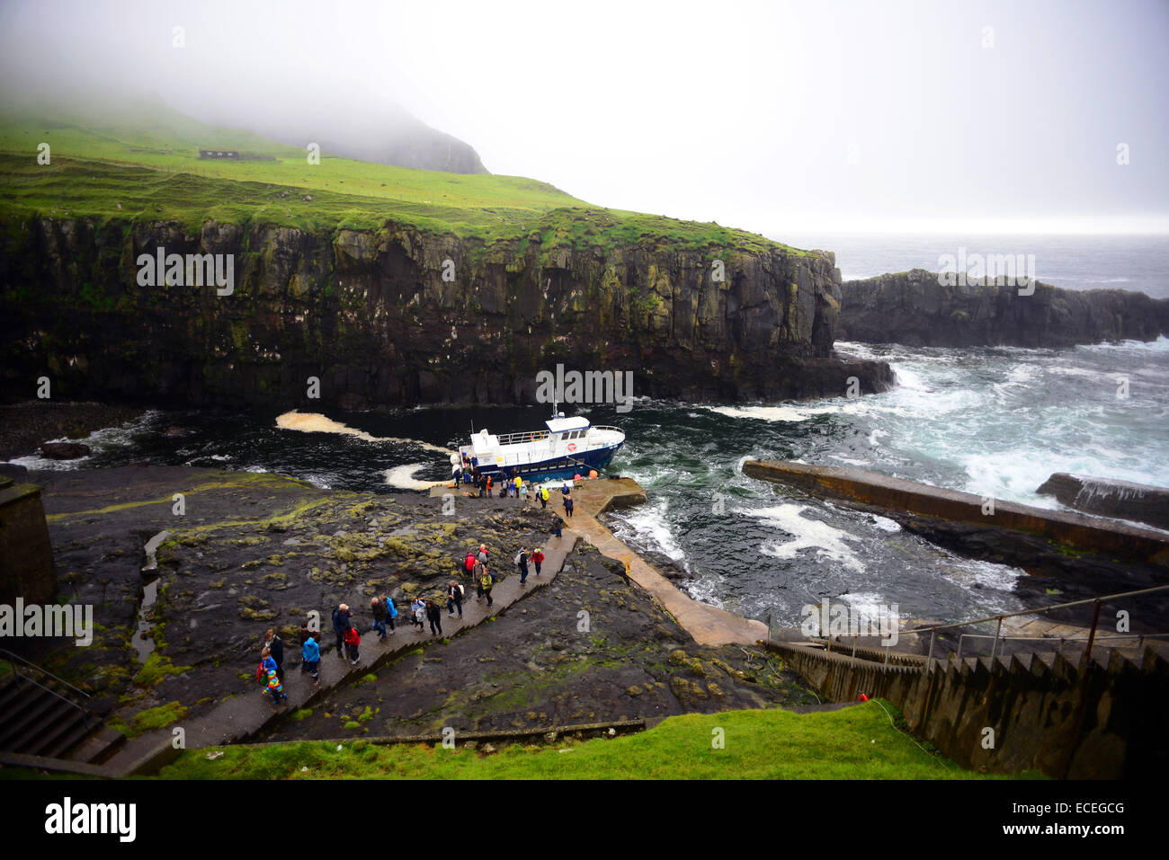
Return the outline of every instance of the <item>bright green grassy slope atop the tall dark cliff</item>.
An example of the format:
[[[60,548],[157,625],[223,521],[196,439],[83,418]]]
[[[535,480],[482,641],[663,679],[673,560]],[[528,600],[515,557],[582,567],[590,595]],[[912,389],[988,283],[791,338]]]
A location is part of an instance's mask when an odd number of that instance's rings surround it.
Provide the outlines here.
[[[37,147],[50,146],[50,164]],[[199,148],[242,160],[200,159]],[[658,241],[684,248],[797,252],[713,223],[606,209],[523,176],[393,167],[203,125],[181,115],[118,120],[0,115],[0,214],[99,222],[251,222],[309,231],[376,229],[394,221],[426,231],[493,242],[611,248]],[[802,252],[801,252],[802,254]]]

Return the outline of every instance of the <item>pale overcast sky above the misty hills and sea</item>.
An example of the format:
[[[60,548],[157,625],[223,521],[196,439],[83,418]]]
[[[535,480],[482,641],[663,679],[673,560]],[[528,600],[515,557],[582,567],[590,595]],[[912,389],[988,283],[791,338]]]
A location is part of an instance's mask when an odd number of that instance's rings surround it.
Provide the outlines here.
[[[492,173],[780,237],[1169,229],[1167,72],[1164,0],[0,6],[6,89],[399,103]]]

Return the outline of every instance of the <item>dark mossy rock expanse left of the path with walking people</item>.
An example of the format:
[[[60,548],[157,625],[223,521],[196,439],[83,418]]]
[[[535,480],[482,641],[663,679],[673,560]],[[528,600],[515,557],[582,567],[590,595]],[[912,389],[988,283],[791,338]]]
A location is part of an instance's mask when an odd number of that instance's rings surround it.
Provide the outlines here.
[[[166,703],[198,715],[255,694],[268,627],[281,631],[286,661],[298,664],[309,611],[320,613],[328,633],[333,606],[345,602],[365,634],[373,595],[389,594],[404,613],[413,596],[437,599],[451,578],[473,594],[461,564],[468,549],[486,545],[496,573],[507,577],[516,549],[551,530],[551,513],[518,500],[466,500],[444,515],[441,499],[417,493],[327,491],[276,474],[124,466],[28,477],[44,487],[58,599],[91,604],[96,631],[85,647],[20,645],[127,726]],[[157,571],[144,576],[145,547],[162,530]],[[154,647],[144,650],[144,664],[131,637],[144,584],[155,575],[157,602],[144,625]]]

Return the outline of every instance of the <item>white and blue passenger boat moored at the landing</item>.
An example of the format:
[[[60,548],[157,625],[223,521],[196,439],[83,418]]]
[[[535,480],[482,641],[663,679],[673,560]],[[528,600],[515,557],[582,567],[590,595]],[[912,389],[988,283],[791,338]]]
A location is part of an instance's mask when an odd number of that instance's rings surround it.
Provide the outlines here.
[[[562,480],[604,469],[625,444],[625,432],[617,426],[590,424],[588,418],[566,418],[563,412],[544,423],[545,430],[496,436],[486,429],[471,435],[471,442],[451,455],[451,465],[463,462],[478,465],[492,480]]]

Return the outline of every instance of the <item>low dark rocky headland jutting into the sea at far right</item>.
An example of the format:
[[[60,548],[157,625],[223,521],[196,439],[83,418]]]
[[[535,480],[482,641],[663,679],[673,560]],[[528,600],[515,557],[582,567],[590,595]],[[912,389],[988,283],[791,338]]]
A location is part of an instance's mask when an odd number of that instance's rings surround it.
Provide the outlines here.
[[[1063,347],[1169,334],[1169,299],[1125,290],[968,282],[914,269],[843,284],[837,338],[907,346]],[[1023,287],[1024,290],[1029,289]]]

